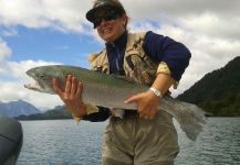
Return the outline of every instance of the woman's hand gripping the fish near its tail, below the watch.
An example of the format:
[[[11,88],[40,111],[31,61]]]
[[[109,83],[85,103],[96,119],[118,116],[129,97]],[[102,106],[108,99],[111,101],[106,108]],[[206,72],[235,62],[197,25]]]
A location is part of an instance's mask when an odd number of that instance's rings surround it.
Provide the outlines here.
[[[157,113],[159,101],[160,98],[148,90],[128,98],[125,103],[136,102],[140,118],[154,119]]]

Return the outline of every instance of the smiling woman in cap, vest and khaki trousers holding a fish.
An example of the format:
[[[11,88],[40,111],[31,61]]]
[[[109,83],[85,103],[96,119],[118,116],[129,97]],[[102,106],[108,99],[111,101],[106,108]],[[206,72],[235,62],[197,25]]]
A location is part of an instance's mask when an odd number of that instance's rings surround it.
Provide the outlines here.
[[[81,99],[84,86],[71,75],[65,89],[60,89],[53,79],[55,92],[74,117],[88,121],[109,118],[104,132],[103,165],[174,164],[179,152],[177,133],[171,116],[157,108],[161,97],[180,80],[190,52],[181,43],[150,31],[129,33],[128,16],[118,0],[96,0],[86,19],[106,43],[103,52],[91,56],[93,69],[126,75],[149,85],[149,90],[126,98],[125,103],[137,103],[137,111],[125,111],[123,119],[103,107],[90,112]]]

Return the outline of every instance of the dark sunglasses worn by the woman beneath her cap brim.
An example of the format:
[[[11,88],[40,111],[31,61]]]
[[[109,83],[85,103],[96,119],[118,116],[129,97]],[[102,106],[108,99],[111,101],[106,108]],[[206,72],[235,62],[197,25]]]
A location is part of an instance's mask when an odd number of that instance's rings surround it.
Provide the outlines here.
[[[93,28],[96,29],[100,26],[102,21],[112,21],[116,20],[121,14],[117,11],[114,10],[107,10],[103,15],[95,15],[94,20],[92,21]]]

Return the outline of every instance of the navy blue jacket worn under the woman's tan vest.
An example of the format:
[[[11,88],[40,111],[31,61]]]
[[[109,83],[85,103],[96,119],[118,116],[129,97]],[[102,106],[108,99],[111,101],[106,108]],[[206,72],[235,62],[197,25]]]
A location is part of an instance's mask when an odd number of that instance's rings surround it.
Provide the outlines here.
[[[127,43],[127,31],[114,43],[106,43],[106,52],[109,61],[109,73],[124,75],[124,54]],[[152,31],[146,33],[143,48],[145,53],[156,63],[165,62],[171,73],[171,77],[179,81],[185,69],[189,65],[191,54],[181,43]],[[104,121],[109,117],[107,108],[100,107],[100,112],[83,118],[90,121]]]

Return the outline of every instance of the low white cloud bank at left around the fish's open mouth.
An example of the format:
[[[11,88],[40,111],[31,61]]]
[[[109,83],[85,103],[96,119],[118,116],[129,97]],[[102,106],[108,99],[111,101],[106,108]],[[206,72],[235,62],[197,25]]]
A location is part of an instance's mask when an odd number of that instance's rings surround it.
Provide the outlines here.
[[[31,79],[28,78],[25,72],[32,67],[42,65],[54,65],[54,62],[44,61],[21,61],[11,62],[11,48],[7,43],[0,41],[0,101],[25,100],[38,108],[53,108],[62,105],[62,101],[56,96],[31,91],[23,87]],[[44,99],[42,99],[44,98]]]

